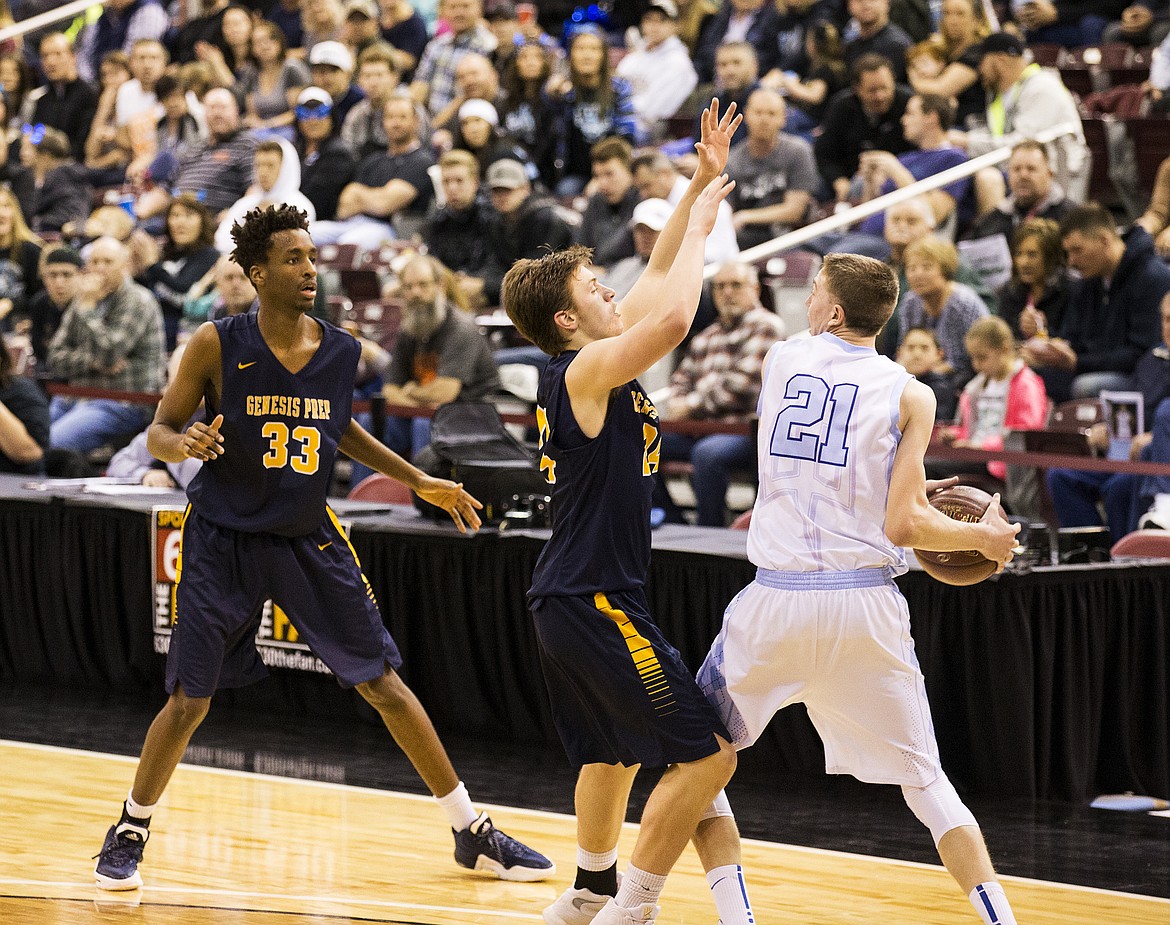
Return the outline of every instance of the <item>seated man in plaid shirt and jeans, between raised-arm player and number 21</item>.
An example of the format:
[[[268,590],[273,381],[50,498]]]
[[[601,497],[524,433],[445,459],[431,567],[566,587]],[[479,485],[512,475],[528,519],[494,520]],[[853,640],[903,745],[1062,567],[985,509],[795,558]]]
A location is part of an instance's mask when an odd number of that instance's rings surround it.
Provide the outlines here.
[[[670,377],[663,416],[672,421],[746,421],[759,399],[764,357],[784,339],[784,322],[759,302],[759,276],[748,263],[724,263],[711,281],[718,319],[695,336]],[[700,526],[727,525],[731,472],[755,468],[750,435],[709,434],[689,437],[662,434],[663,460],[689,460]],[[681,520],[665,486],[659,499],[667,518]]]

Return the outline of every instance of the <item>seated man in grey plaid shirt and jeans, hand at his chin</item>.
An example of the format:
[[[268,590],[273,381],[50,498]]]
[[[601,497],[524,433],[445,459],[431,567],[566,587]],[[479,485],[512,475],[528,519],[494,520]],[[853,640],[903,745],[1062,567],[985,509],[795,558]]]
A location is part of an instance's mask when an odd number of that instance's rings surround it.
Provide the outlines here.
[[[77,296],[49,341],[50,375],[73,386],[161,392],[163,312],[154,296],[130,278],[129,268],[130,253],[121,241],[94,242]],[[152,412],[149,405],[57,395],[49,444],[89,453],[133,436],[150,423]]]

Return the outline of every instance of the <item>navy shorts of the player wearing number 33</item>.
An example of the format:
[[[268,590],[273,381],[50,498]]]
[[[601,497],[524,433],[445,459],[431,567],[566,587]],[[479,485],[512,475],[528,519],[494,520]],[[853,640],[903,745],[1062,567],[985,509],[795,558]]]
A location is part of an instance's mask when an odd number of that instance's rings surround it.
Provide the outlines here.
[[[373,589],[333,512],[303,537],[245,533],[188,508],[183,522],[166,689],[211,697],[267,675],[256,653],[271,600],[344,688],[402,664]]]

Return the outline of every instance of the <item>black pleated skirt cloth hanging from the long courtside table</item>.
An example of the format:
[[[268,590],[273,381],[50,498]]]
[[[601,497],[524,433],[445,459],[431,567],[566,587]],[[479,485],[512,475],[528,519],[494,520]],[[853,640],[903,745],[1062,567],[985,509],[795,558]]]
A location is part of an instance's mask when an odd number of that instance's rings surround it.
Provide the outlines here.
[[[542,540],[402,531],[356,518],[353,543],[405,656],[402,676],[441,731],[555,741],[524,592]],[[149,517],[60,499],[0,499],[0,679],[161,686],[151,640]],[[752,567],[656,550],[648,596],[697,668]],[[1039,570],[972,588],[910,572],[909,602],[943,765],[961,789],[1082,800],[1170,795],[1170,566]],[[266,711],[369,707],[328,677],[274,671],[220,695]],[[741,764],[824,767],[801,707]]]

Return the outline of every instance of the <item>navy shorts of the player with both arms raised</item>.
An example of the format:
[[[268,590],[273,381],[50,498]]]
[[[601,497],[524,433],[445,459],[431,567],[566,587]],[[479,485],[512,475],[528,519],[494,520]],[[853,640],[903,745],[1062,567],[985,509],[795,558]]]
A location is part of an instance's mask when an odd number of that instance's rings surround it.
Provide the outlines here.
[[[730,741],[641,591],[529,602],[552,719],[569,760],[666,767]]]

